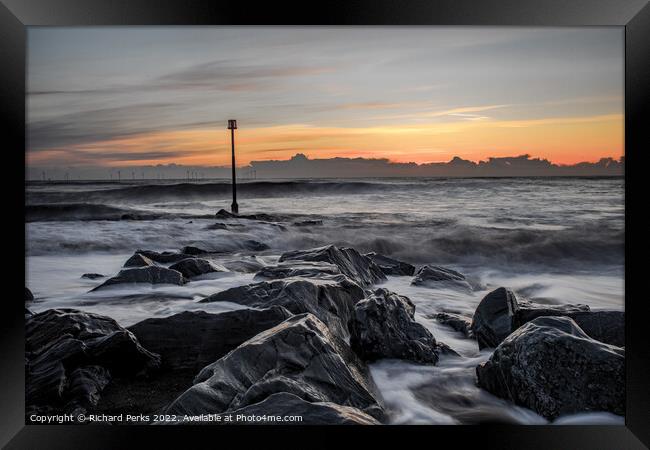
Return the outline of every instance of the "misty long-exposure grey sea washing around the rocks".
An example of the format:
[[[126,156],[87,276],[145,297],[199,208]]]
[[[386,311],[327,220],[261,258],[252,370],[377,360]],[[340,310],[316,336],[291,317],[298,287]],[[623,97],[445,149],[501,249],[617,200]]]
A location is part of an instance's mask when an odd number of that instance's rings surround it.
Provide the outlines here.
[[[371,365],[393,424],[548,424],[476,386],[475,367],[491,350],[441,325],[441,311],[473,314],[492,289],[505,286],[541,303],[580,303],[624,310],[624,178],[390,178],[240,180],[240,214],[230,209],[228,180],[28,182],[26,286],[35,312],[76,308],[123,326],[186,310],[242,308],[198,303],[207,295],[254,282],[254,273],[205,275],[185,286],[133,285],[89,292],[116,274],[136,249],[218,249],[216,262],[273,264],[285,251],[326,244],[377,252],[416,266],[462,272],[481,288],[458,292],[412,286],[390,276],[381,287],[408,296],[416,319],[461,354],[436,366],[383,360]],[[225,229],[215,229],[224,223]],[[267,250],[248,250],[257,241]],[[619,424],[606,412],[553,424]]]

